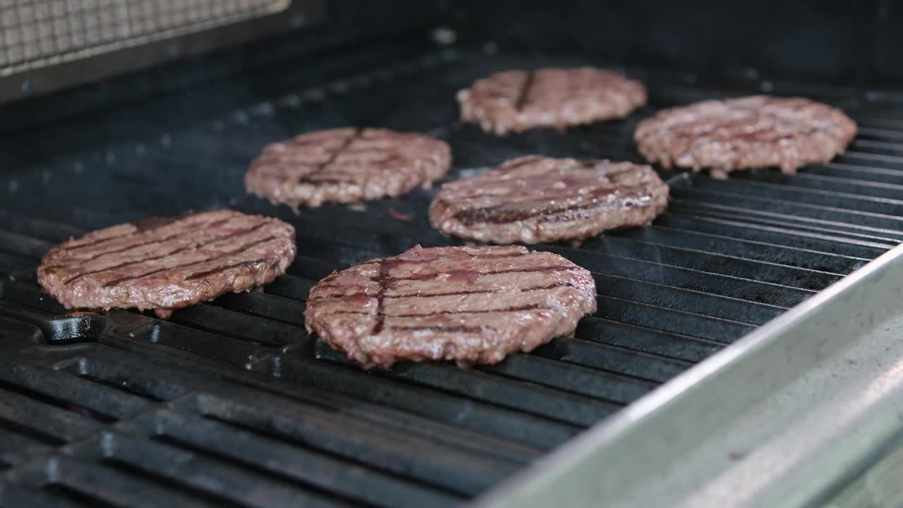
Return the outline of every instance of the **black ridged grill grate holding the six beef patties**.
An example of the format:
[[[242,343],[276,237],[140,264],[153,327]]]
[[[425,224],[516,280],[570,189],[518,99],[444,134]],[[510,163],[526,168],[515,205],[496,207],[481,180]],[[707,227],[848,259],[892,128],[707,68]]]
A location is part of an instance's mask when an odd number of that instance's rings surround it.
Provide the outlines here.
[[[461,503],[903,240],[903,110],[880,97],[628,69],[651,97],[630,118],[495,137],[457,121],[457,89],[490,71],[593,62],[377,47],[341,61],[283,62],[7,140],[0,504]],[[314,128],[439,136],[460,178],[535,153],[640,162],[633,127],[656,108],[762,89],[844,108],[860,136],[792,176],[666,174],[673,200],[651,226],[539,246],[591,270],[599,311],[576,337],[492,367],[362,372],[303,328],[308,291],[331,271],[457,243],[429,227],[434,191],[297,214],[243,192],[262,146]],[[226,206],[297,228],[298,258],[265,293],[162,321],[67,314],[35,282],[61,240]]]

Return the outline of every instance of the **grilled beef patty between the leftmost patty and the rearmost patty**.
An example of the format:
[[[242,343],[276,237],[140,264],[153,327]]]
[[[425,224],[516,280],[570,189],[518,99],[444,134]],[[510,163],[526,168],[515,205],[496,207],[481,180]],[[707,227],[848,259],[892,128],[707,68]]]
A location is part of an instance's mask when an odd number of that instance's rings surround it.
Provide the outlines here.
[[[398,196],[442,178],[452,151],[430,136],[376,128],[320,130],[267,145],[247,192],[293,208]]]

